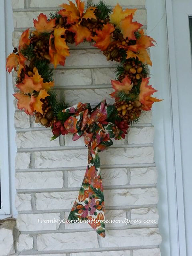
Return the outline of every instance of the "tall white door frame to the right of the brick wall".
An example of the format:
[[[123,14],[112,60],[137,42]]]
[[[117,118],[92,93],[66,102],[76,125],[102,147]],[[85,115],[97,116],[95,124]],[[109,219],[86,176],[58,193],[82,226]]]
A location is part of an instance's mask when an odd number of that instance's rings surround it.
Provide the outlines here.
[[[153,108],[155,162],[159,173],[159,229],[163,238],[160,248],[162,256],[186,256],[172,0],[146,2],[148,34],[157,41],[157,47],[151,48],[152,81],[160,97],[164,98],[160,103],[162,107],[154,104]]]

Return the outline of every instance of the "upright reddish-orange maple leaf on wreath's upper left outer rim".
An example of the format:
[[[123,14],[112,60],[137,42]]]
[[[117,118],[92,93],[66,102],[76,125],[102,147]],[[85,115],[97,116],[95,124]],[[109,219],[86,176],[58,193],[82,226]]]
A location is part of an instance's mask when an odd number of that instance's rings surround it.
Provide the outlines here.
[[[55,27],[55,20],[47,20],[47,16],[43,13],[40,13],[40,15],[37,17],[38,21],[33,19],[34,27],[36,28],[37,32],[39,33],[50,33],[53,31],[53,28]]]

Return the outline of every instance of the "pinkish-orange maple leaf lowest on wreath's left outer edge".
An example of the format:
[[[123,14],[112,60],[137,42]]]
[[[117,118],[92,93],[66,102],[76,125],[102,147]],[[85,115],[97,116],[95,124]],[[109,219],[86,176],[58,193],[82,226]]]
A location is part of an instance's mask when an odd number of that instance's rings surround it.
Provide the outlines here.
[[[24,109],[25,113],[28,115],[33,115],[33,103],[35,102],[34,96],[28,96],[22,92],[17,92],[13,96],[18,100],[17,107],[21,110]]]

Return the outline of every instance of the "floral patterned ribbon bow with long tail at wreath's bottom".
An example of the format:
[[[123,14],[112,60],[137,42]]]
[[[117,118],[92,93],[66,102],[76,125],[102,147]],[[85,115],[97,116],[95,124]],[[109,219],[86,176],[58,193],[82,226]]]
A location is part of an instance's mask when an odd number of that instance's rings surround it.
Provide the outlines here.
[[[107,122],[110,107],[104,100],[93,109],[89,103],[78,103],[63,110],[71,114],[64,123],[65,129],[73,133],[73,140],[84,136],[85,146],[88,146],[87,169],[68,220],[89,220],[91,227],[102,237],[105,237],[105,224],[102,222],[105,203],[99,152],[113,145],[111,138],[119,139],[122,134],[116,125]]]

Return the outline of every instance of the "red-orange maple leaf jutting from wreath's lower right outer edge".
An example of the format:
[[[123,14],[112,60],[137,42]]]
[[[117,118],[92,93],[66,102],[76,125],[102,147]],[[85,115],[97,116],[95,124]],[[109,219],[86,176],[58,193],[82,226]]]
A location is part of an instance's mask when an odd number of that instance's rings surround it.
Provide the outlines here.
[[[156,101],[162,101],[156,98],[151,97],[154,92],[157,92],[151,85],[148,85],[149,77],[142,78],[142,82],[140,85],[140,94],[139,101],[144,105],[142,107],[143,110],[151,110],[152,104]]]

